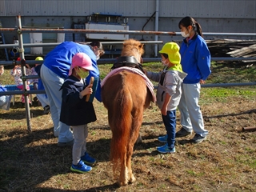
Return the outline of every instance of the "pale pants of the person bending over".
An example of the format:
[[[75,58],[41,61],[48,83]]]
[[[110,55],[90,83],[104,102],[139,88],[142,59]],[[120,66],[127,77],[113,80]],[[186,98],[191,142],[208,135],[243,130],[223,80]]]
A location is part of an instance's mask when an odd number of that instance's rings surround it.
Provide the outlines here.
[[[64,79],[54,74],[43,64],[40,76],[50,104],[50,115],[54,122],[54,136],[58,137],[58,142],[70,142],[74,139],[70,126],[59,121],[62,107],[62,90],[59,89]]]

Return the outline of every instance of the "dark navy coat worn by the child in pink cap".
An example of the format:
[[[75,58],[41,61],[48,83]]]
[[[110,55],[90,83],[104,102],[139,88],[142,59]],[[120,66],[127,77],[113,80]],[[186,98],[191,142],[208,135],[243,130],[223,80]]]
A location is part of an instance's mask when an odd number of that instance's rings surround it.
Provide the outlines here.
[[[60,121],[68,126],[82,126],[96,121],[96,114],[92,102],[86,102],[86,96],[79,97],[79,93],[86,88],[86,83],[80,82],[70,75],[63,83],[62,108]]]

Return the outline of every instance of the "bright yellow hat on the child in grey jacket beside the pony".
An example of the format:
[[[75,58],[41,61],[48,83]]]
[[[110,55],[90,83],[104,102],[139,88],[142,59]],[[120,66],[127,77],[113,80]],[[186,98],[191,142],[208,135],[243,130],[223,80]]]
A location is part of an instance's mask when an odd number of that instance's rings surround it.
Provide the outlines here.
[[[176,42],[166,42],[159,53],[168,54],[169,61],[175,65],[179,65],[181,63],[182,58],[181,54],[179,54],[179,46]]]

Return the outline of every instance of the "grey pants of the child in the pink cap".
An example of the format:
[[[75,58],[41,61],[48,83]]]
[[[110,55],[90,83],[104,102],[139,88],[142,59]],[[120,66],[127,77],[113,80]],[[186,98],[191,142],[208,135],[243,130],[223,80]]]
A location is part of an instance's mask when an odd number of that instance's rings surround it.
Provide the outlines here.
[[[72,163],[78,165],[81,157],[86,153],[86,138],[88,136],[88,126],[72,126],[74,134],[74,145],[72,150]]]

